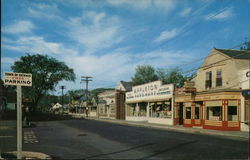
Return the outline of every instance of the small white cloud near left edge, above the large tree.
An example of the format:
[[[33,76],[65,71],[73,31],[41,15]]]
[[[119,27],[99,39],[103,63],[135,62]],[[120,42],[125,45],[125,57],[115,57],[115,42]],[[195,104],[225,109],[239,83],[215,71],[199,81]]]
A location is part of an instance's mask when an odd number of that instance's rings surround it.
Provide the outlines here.
[[[4,27],[3,31],[10,34],[30,33],[34,28],[35,25],[31,21],[19,20],[14,24]]]

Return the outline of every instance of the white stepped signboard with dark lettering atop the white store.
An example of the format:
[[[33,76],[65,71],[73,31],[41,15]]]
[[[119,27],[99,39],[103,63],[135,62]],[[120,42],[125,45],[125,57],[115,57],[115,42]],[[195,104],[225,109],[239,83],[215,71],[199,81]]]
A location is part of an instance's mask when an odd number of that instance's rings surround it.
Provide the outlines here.
[[[171,98],[173,90],[173,84],[162,85],[161,81],[134,86],[131,92],[126,93],[126,102]]]

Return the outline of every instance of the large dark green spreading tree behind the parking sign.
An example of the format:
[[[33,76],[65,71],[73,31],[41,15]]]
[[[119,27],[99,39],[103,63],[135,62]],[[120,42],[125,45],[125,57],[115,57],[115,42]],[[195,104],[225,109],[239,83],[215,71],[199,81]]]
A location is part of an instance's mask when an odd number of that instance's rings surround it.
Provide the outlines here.
[[[75,74],[64,62],[47,55],[22,56],[11,69],[14,72],[31,73],[32,87],[23,87],[24,97],[31,100],[31,111],[35,112],[37,104],[48,91],[54,90],[62,80],[74,81]]]

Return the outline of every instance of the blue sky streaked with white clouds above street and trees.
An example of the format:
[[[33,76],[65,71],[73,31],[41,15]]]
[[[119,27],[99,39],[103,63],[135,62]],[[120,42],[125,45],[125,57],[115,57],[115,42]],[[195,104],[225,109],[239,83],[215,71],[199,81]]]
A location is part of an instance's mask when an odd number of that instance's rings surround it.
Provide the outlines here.
[[[93,77],[90,89],[114,88],[143,64],[185,72],[199,67],[202,60],[196,60],[214,47],[229,49],[250,40],[250,0],[1,3],[1,77],[21,56],[39,53],[74,69],[75,82],[59,84],[66,91],[85,89],[81,76]]]

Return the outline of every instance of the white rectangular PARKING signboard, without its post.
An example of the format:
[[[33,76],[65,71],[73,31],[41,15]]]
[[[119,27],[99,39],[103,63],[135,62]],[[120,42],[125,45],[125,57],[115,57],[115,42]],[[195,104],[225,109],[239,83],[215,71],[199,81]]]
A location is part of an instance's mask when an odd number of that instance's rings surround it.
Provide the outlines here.
[[[15,86],[32,86],[32,74],[5,72],[4,84]]]

